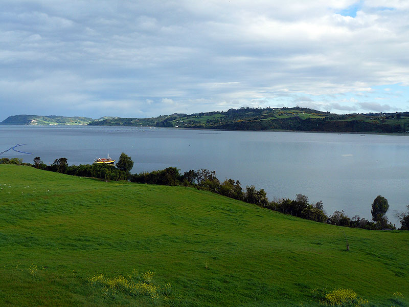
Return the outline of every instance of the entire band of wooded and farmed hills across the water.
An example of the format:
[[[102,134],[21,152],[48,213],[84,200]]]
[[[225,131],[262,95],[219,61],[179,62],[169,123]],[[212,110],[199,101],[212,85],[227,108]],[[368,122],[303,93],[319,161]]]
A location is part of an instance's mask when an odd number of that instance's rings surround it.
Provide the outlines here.
[[[150,126],[190,129],[244,131],[311,131],[333,133],[409,133],[409,112],[333,114],[311,108],[250,108],[194,114],[174,113],[152,118],[85,117],[15,115],[0,124],[13,125],[98,125]]]

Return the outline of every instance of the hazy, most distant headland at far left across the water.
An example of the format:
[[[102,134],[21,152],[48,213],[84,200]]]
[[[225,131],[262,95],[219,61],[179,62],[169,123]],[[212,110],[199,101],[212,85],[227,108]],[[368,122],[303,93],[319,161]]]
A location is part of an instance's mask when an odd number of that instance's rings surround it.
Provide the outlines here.
[[[2,125],[87,125],[94,119],[89,117],[13,115],[0,122]]]

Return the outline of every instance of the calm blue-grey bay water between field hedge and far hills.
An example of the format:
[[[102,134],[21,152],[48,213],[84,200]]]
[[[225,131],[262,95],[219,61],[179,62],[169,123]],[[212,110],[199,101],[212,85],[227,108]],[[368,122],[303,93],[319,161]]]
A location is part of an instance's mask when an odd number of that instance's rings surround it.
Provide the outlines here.
[[[67,158],[72,164],[90,164],[121,152],[134,161],[132,172],[169,166],[215,170],[220,180],[239,180],[242,187],[263,188],[270,200],[322,200],[328,214],[344,210],[371,218],[371,204],[380,194],[388,199],[388,217],[399,224],[394,210],[408,203],[409,138],[405,136],[293,133],[272,131],[181,130],[108,126],[0,125],[0,158],[46,164]]]

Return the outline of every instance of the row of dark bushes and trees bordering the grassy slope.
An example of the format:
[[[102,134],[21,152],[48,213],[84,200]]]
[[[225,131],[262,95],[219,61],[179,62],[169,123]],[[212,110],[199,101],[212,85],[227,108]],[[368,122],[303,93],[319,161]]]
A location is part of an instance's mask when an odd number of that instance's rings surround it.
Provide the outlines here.
[[[39,157],[34,159],[34,164],[22,163],[22,159],[18,158],[3,158],[0,159],[0,164],[2,163],[29,165],[42,170],[55,171],[72,176],[98,178],[105,181],[126,180],[135,183],[194,187],[315,222],[371,230],[396,229],[385,215],[389,208],[388,201],[380,195],[377,196],[372,204],[371,213],[373,221],[371,222],[357,215],[350,218],[344,211],[335,211],[332,215],[328,216],[324,211],[322,201],[311,204],[308,201],[308,197],[301,193],[296,195],[295,200],[283,198],[269,201],[264,189],[257,190],[252,185],[246,186],[245,190],[243,190],[238,180],[225,179],[220,181],[216,177],[216,172],[208,169],[189,170],[181,174],[176,167],[168,167],[163,170],[131,174],[130,170],[132,169],[133,161],[125,153],[121,154],[119,162],[116,164],[117,167],[105,164],[69,166],[66,158],[56,159],[53,164],[46,165],[42,163]],[[408,211],[406,212],[396,214],[402,225],[401,230],[409,230],[409,205],[407,209]]]

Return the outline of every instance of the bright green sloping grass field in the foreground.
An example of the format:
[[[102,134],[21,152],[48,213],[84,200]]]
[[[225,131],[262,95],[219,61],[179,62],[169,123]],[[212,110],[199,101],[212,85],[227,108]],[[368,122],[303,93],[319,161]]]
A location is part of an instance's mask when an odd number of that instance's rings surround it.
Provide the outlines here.
[[[1,306],[320,306],[339,288],[409,306],[407,231],[28,166],[0,184]]]

